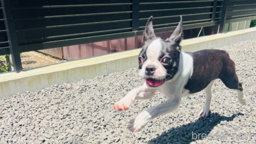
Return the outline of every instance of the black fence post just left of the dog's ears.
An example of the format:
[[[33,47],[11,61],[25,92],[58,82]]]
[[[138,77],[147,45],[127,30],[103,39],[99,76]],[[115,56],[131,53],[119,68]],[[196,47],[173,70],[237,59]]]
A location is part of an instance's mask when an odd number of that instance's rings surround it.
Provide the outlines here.
[[[133,14],[132,14],[132,27],[133,31],[138,30],[138,13],[139,13],[139,0],[133,0]]]

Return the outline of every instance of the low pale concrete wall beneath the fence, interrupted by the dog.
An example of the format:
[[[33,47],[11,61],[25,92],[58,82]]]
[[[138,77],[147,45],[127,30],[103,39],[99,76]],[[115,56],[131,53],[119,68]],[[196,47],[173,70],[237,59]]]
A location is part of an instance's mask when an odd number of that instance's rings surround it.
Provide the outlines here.
[[[256,38],[256,28],[191,38],[182,42],[183,51],[217,48]],[[20,73],[0,74],[0,98],[36,91],[55,84],[71,83],[138,67],[140,49],[75,60]]]

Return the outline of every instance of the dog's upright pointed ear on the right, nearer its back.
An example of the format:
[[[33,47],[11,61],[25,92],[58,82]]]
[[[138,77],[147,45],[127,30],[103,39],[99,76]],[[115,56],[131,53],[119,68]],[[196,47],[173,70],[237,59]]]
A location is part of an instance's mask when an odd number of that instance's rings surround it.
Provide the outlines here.
[[[182,30],[182,16],[181,16],[181,21],[180,23],[178,23],[177,28],[175,29],[175,31],[173,32],[173,34],[170,36],[169,40],[171,42],[174,42],[178,45],[180,45],[180,42],[182,41],[182,34],[183,34],[183,30]]]

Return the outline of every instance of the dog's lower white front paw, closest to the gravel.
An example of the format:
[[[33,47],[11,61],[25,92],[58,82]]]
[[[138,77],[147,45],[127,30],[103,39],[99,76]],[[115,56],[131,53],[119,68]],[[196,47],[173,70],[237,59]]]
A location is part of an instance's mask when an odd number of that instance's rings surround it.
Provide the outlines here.
[[[144,111],[138,114],[138,116],[135,119],[132,119],[129,122],[127,128],[131,132],[138,132],[139,130],[142,130],[142,128],[145,127],[150,120],[151,115],[147,111]]]

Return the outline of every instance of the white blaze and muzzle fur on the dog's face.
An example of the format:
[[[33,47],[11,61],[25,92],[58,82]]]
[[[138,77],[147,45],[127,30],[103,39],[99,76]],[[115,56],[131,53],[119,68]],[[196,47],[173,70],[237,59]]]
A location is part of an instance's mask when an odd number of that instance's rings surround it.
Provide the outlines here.
[[[156,67],[155,73],[152,78],[163,79],[166,76],[166,70],[159,61],[160,51],[162,50],[161,39],[154,40],[148,47],[146,51],[147,60],[143,63],[142,69],[139,72],[139,76],[146,78],[145,68],[148,65],[153,65]]]

